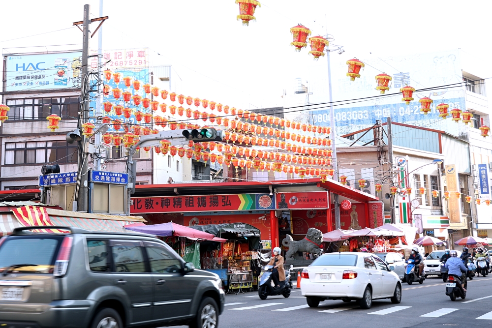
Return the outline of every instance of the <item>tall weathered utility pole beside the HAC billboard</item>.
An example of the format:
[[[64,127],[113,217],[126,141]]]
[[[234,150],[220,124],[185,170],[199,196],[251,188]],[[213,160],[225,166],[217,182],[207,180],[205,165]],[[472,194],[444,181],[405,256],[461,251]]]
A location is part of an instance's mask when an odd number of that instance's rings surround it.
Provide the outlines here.
[[[83,30],[83,41],[82,41],[82,117],[80,119],[81,124],[89,121],[89,90],[90,90],[90,82],[89,82],[89,41],[91,36],[91,30],[89,29],[89,24],[91,14],[91,5],[84,5],[84,30]],[[86,156],[86,140],[85,137],[81,141],[79,141],[79,147],[81,153],[79,153],[79,163],[80,163],[80,176],[78,177],[80,181],[78,199],[77,199],[77,210],[79,212],[87,212],[88,210],[88,158]]]

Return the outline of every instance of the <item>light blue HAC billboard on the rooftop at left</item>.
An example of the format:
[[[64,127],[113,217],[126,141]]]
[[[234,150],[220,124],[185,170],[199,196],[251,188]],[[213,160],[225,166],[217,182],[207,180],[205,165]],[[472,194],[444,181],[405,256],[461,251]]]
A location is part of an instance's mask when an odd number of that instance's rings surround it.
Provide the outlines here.
[[[5,91],[80,88],[82,52],[4,56]]]

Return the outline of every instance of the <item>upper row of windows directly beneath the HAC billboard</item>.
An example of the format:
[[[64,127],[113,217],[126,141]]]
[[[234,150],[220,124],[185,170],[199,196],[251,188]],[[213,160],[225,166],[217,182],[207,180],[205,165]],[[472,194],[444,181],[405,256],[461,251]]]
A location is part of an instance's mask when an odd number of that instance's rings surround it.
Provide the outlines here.
[[[9,120],[45,120],[51,114],[62,119],[77,119],[79,105],[78,97],[7,99]]]

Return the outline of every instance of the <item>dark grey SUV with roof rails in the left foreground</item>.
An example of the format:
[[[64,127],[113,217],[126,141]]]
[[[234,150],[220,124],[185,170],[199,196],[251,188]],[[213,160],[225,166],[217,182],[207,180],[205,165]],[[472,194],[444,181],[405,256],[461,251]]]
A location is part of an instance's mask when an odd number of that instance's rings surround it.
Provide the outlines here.
[[[217,327],[225,300],[221,280],[185,263],[161,240],[32,229],[0,239],[1,326]]]

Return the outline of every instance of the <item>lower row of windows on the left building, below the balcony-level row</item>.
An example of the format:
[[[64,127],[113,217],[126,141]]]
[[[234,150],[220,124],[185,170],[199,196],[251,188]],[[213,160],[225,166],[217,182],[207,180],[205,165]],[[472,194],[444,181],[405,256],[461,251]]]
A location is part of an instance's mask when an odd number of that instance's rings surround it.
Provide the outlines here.
[[[77,145],[66,141],[5,143],[5,165],[77,162]]]

